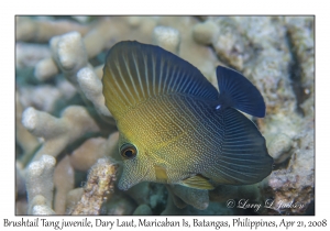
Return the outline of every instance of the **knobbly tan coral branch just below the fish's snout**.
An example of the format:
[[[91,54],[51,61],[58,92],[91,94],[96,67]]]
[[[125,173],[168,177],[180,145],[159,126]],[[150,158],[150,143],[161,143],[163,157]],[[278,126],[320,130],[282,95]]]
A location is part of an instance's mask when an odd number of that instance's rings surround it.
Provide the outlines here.
[[[117,165],[99,158],[91,167],[81,200],[72,215],[99,215],[105,200],[111,197],[116,182]]]

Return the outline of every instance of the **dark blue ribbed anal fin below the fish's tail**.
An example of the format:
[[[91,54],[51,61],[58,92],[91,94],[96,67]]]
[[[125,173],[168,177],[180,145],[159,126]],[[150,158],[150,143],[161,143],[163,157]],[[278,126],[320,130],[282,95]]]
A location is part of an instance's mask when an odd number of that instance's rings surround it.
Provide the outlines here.
[[[223,124],[221,153],[202,175],[228,185],[250,185],[268,176],[273,158],[255,124],[232,108],[223,111]]]

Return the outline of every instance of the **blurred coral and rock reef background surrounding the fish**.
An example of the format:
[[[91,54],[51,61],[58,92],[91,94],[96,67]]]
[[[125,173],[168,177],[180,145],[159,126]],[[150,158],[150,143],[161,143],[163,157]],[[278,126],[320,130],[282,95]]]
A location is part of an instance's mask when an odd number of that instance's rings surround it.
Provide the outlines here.
[[[314,16],[15,20],[16,215],[315,213]],[[123,40],[177,54],[216,87],[218,65],[244,74],[266,102],[266,117],[250,119],[266,139],[273,173],[255,185],[217,187],[204,210],[194,195],[177,208],[162,184],[120,191],[118,131],[101,78],[107,51]]]

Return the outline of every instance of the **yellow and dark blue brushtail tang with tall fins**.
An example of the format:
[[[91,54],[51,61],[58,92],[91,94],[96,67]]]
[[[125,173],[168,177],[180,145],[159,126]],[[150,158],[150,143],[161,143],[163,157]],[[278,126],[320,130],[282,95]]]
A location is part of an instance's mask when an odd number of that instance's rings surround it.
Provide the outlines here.
[[[121,190],[141,182],[211,190],[271,174],[265,139],[242,113],[265,117],[261,92],[231,68],[216,72],[220,92],[160,46],[122,41],[109,50],[102,92],[120,133]]]

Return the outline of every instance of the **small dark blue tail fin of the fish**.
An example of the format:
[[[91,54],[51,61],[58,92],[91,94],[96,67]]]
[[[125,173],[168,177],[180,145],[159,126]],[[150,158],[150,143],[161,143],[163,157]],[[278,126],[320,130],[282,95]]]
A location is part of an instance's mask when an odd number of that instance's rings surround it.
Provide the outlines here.
[[[265,117],[264,99],[248,78],[221,66],[217,67],[217,78],[221,106],[232,107],[254,117]]]

